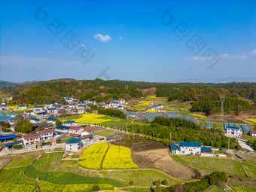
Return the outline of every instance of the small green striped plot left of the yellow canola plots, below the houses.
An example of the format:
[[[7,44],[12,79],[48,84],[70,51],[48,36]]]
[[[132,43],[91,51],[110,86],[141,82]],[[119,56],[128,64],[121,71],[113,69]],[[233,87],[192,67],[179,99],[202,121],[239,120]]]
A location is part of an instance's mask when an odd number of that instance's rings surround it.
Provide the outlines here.
[[[35,161],[34,166],[42,171],[53,171],[59,166],[59,161],[62,159],[63,154],[63,151],[45,153]]]

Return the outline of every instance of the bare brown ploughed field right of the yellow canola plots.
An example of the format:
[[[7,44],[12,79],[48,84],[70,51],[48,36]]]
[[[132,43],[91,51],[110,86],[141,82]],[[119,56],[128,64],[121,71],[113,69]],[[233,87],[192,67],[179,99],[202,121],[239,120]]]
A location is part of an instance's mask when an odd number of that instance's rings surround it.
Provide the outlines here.
[[[142,168],[154,167],[180,180],[187,181],[194,179],[194,169],[173,160],[167,150],[167,148],[162,148],[150,151],[133,151],[133,160]],[[209,175],[210,173],[201,170],[200,172],[203,176]]]

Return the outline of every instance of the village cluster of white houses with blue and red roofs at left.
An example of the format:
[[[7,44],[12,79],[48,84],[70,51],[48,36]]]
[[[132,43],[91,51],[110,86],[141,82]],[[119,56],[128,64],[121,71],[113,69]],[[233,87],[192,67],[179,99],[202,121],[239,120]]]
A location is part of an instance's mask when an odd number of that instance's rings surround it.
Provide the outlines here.
[[[44,106],[34,106],[32,110],[26,110],[26,105],[19,105],[13,110],[24,110],[24,119],[29,120],[33,124],[33,130],[35,133],[28,134],[26,136],[19,137],[15,133],[15,126],[17,126],[18,120],[17,115],[19,114],[7,114],[3,116],[0,121],[10,124],[10,129],[14,133],[1,133],[0,141],[11,141],[8,142],[5,147],[7,151],[12,150],[14,145],[23,145],[23,148],[38,148],[41,143],[46,143],[49,141],[57,142],[58,139],[66,138],[67,136],[72,136],[73,138],[66,141],[67,151],[79,151],[81,146],[87,142],[99,141],[99,139],[104,139],[100,136],[96,136],[89,125],[87,127],[81,127],[82,124],[76,123],[75,120],[66,120],[62,122],[62,125],[56,126],[58,117],[62,114],[86,114],[87,109],[90,109],[92,105],[97,105],[103,108],[114,108],[117,110],[123,110],[124,106],[127,104],[124,99],[113,99],[111,102],[95,102],[95,101],[84,101],[81,102],[73,97],[64,98],[67,105],[62,102],[56,102],[54,104],[46,103]],[[6,103],[2,103],[0,111],[8,110]],[[40,129],[40,128],[41,129]],[[44,127],[44,128],[43,128]],[[51,145],[51,144],[50,144]],[[62,145],[63,146],[63,145]]]

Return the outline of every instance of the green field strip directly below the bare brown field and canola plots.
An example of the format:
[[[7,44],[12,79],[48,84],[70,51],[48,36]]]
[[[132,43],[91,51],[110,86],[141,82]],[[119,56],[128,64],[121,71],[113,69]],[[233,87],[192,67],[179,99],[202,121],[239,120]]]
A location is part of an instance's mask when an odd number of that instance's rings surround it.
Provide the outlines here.
[[[164,175],[157,170],[113,170],[101,171],[100,173],[108,178],[113,178],[117,181],[124,182],[127,185],[130,181],[133,181],[134,186],[152,186],[153,181],[158,179],[160,181],[166,179],[168,185],[179,183],[179,181],[169,178],[167,175]]]

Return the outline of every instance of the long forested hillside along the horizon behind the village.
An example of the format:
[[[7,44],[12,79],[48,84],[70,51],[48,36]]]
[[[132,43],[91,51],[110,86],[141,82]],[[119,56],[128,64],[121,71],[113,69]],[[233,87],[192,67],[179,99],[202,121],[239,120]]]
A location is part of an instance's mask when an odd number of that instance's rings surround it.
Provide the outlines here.
[[[39,105],[46,102],[65,102],[64,96],[77,99],[93,99],[107,102],[113,98],[141,98],[148,96],[146,90],[154,87],[158,97],[166,97],[169,102],[193,102],[191,111],[205,112],[207,115],[221,111],[220,97],[225,96],[224,111],[255,111],[256,83],[228,84],[170,84],[140,81],[103,81],[62,79],[53,81],[34,81],[3,87],[2,92],[13,97],[13,104]]]

